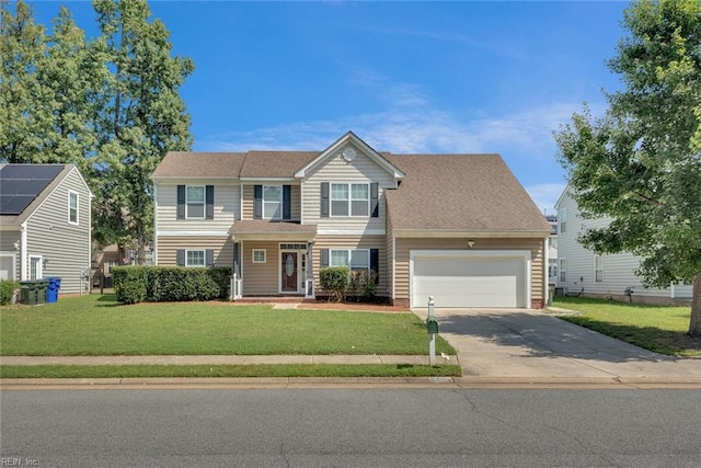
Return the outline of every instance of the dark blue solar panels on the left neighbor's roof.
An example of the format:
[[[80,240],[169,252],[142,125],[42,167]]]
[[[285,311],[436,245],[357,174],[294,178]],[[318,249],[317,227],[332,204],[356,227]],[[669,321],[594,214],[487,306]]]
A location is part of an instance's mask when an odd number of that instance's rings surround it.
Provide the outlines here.
[[[0,168],[0,215],[19,215],[64,170],[61,164]]]

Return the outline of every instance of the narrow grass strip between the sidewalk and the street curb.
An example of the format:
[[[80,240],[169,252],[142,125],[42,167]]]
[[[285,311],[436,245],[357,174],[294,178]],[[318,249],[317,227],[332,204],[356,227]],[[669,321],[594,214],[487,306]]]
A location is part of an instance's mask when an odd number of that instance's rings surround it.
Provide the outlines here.
[[[2,366],[1,378],[129,378],[129,377],[448,377],[460,366],[428,365],[140,365],[140,366]]]

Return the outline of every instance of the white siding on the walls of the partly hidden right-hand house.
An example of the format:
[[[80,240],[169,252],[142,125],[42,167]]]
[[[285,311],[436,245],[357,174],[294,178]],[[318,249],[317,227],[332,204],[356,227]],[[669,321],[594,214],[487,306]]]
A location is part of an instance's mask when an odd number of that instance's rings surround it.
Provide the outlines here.
[[[645,288],[642,278],[635,276],[635,270],[640,266],[642,258],[632,253],[604,254],[604,281],[596,282],[595,253],[585,249],[577,238],[587,229],[604,228],[609,225],[609,218],[582,219],[575,201],[570,195],[564,195],[558,205],[558,209],[567,210],[567,231],[558,235],[558,258],[566,259],[567,271],[564,282],[558,275],[558,286],[567,288],[568,293],[577,293],[584,286],[585,295],[612,296],[618,299],[627,299],[623,295],[627,287],[633,287],[633,301],[640,298],[671,298],[671,288]],[[677,299],[690,299],[691,285],[675,285],[674,296]]]

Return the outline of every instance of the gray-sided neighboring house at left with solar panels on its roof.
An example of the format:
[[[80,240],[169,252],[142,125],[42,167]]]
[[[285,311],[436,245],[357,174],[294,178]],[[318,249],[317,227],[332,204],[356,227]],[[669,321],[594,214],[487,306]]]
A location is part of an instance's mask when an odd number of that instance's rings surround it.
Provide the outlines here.
[[[92,193],[73,164],[0,167],[0,278],[61,278],[87,290]]]

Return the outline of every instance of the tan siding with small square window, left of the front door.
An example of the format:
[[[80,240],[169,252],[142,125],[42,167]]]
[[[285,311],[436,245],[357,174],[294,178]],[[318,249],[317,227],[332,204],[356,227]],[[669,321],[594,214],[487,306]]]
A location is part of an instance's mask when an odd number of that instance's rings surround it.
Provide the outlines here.
[[[265,263],[253,263],[253,250],[265,250]],[[241,264],[243,267],[243,296],[275,296],[279,294],[279,242],[243,241]]]

